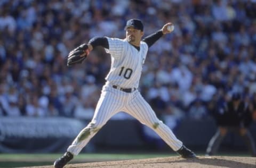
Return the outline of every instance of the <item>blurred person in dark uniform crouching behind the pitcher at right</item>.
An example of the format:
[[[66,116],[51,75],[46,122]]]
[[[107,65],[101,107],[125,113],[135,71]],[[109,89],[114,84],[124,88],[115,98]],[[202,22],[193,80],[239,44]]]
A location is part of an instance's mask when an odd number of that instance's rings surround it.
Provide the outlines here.
[[[219,108],[219,111],[214,114],[214,117],[217,121],[218,129],[207,146],[207,156],[217,154],[223,138],[228,132],[234,132],[242,137],[251,155],[256,157],[255,143],[248,129],[252,122],[252,112],[250,111],[249,104],[242,100],[240,94],[233,94],[231,100],[225,102]]]

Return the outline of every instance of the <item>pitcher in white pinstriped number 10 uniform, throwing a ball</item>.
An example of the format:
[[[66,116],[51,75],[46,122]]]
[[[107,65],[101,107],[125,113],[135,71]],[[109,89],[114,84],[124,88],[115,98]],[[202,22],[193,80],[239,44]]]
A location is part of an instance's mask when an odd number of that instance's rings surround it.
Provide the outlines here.
[[[137,89],[148,48],[163,35],[172,31],[173,24],[166,23],[161,30],[141,40],[143,24],[141,20],[131,19],[126,22],[125,39],[92,38],[88,44],[82,44],[69,53],[68,66],[82,63],[93,48],[102,46],[111,55],[111,68],[105,78],[106,83],[102,87],[93,119],[79,132],[67,152],[54,162],[55,167],[65,166],[73,159],[74,155],[78,155],[111,116],[121,111],[129,113],[142,124],[153,129],[181,157],[196,157],[175,137],[171,129],[157,118],[155,112]]]

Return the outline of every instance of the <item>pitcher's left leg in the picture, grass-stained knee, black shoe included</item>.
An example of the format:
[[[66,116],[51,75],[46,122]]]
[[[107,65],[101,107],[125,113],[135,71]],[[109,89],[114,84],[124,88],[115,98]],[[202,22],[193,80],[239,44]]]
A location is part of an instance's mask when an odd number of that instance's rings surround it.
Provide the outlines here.
[[[74,155],[78,155],[110,117],[120,111],[123,107],[123,102],[120,101],[122,97],[122,94],[116,95],[110,91],[109,87],[103,87],[92,121],[78,134],[67,152],[56,159],[53,164],[55,168],[62,168],[73,159]]]

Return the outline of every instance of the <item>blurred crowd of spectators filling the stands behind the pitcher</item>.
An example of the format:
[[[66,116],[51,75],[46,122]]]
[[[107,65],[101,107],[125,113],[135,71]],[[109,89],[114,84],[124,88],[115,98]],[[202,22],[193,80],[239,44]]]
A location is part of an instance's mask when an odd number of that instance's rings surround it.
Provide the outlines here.
[[[163,120],[203,119],[234,92],[256,109],[256,1],[2,0],[0,115],[90,119],[110,56],[99,47],[71,68],[66,57],[95,36],[125,38],[131,18],[145,37],[175,26],[149,48],[139,88]]]

